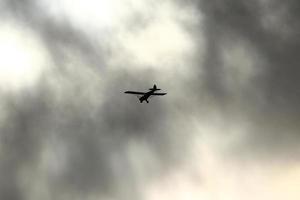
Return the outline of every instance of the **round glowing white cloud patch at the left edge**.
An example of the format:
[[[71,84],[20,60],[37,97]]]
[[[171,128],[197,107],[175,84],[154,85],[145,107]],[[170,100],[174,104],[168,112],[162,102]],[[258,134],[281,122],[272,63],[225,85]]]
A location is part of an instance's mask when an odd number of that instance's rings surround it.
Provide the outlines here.
[[[45,67],[46,53],[34,34],[16,24],[0,27],[0,89],[30,86]]]

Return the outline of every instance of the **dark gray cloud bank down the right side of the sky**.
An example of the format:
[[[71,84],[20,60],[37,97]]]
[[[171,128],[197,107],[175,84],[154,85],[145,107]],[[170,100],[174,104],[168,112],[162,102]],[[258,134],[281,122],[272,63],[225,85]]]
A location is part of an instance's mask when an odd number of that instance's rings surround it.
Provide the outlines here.
[[[205,18],[207,51],[205,57],[205,83],[208,94],[225,116],[244,115],[251,123],[249,135],[238,151],[266,154],[273,158],[295,158],[299,141],[299,51],[297,36],[299,3],[270,1],[200,1]],[[269,8],[269,9],[266,9]],[[277,12],[285,10],[285,12]],[[263,20],[276,18],[273,28],[266,28]],[[268,22],[271,23],[271,22]],[[285,29],[285,30],[282,30]],[[288,33],[286,33],[286,32]],[[241,87],[238,94],[228,91],[224,63],[220,54],[224,41],[229,44],[245,42],[260,55],[262,69],[249,88]],[[228,43],[227,43],[228,44]],[[230,48],[226,46],[225,49]],[[252,52],[248,52],[249,55]],[[236,58],[238,59],[238,58]],[[243,66],[240,66],[243,67]],[[232,78],[232,77],[231,77]],[[238,84],[238,83],[237,83]],[[241,101],[242,103],[236,103]],[[247,147],[247,148],[246,148]],[[276,152],[276,153],[275,153]],[[252,155],[253,156],[253,155]]]

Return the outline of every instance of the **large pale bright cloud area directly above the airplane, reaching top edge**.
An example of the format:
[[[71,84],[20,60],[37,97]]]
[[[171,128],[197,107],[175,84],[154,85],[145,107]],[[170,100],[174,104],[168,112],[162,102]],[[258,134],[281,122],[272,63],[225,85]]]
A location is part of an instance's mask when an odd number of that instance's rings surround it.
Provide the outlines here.
[[[113,56],[108,59],[108,67],[186,74],[196,51],[201,57],[199,45],[204,49],[203,36],[196,39],[187,31],[188,26],[195,27],[201,21],[201,14],[188,5],[152,0],[42,2],[54,19],[67,19],[93,44],[109,49]]]

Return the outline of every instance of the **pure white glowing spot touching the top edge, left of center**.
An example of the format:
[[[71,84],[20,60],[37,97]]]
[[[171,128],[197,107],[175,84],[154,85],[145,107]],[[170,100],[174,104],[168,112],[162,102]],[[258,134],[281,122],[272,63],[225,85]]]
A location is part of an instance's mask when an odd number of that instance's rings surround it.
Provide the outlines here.
[[[131,5],[130,1],[119,0],[42,0],[41,3],[57,21],[67,18],[85,31],[116,25]]]

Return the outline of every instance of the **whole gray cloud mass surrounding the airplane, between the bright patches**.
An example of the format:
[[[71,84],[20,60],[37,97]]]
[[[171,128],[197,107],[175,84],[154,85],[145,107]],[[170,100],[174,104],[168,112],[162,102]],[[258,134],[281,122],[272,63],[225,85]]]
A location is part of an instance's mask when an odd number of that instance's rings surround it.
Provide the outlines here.
[[[157,68],[110,69],[109,62],[124,52],[111,47],[120,41],[99,44],[69,19],[55,21],[36,1],[5,1],[2,16],[14,18],[42,38],[54,69],[32,91],[1,100],[7,115],[0,130],[0,197],[45,197],[36,191],[44,184],[49,199],[97,194],[140,199],[140,185],[184,160],[190,138],[216,134],[190,133],[191,119],[200,126],[202,120],[213,119],[219,140],[230,136],[235,123],[248,125],[246,135],[229,142],[222,155],[232,150],[238,159],[242,154],[246,159],[298,160],[299,3],[269,4],[275,8],[267,10],[260,1],[190,1],[203,15],[201,27],[176,22],[197,42],[194,37],[204,33],[205,50],[191,62],[194,66],[187,71],[193,76],[188,79],[176,76],[180,73],[161,74]],[[281,9],[285,12],[277,12]],[[272,26],[265,25],[264,17],[269,23],[269,16],[275,16]],[[133,33],[143,30],[152,17],[133,17],[123,27]],[[280,28],[283,24],[286,32]],[[200,54],[203,47],[196,46]],[[78,57],[70,58],[70,52]],[[70,60],[75,63],[71,69]],[[128,64],[132,63],[124,62]],[[91,75],[95,72],[98,78]],[[144,90],[153,80],[168,90],[169,98],[144,105],[123,95],[127,89]],[[214,112],[225,125],[215,123]],[[51,157],[47,148],[61,166],[42,164],[44,154],[46,160]],[[24,186],[22,177],[39,171],[33,179],[43,184],[32,181]]]

